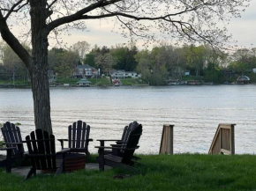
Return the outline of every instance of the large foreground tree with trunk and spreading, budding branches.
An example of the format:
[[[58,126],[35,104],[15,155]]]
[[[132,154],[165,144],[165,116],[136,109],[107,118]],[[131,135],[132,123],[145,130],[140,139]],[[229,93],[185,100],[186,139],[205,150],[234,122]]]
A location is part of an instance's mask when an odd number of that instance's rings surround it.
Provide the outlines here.
[[[52,133],[49,34],[57,35],[74,27],[86,28],[87,20],[111,18],[115,26],[120,26],[117,28],[124,37],[155,40],[161,33],[169,39],[207,41],[213,47],[222,48],[230,36],[225,28],[218,28],[216,22],[239,17],[239,11],[247,2],[249,0],[0,0],[0,33],[29,71],[35,128]],[[11,32],[15,25],[28,28],[32,54]]]

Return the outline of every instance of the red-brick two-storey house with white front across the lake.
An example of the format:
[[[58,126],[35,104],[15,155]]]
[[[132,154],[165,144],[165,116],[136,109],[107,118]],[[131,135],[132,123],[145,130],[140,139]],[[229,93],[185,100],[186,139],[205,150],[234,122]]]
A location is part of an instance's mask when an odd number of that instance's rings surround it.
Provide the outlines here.
[[[82,77],[95,77],[98,75],[98,70],[94,69],[94,67],[91,67],[89,64],[84,65],[78,65],[73,70],[73,77],[76,78],[82,78]]]

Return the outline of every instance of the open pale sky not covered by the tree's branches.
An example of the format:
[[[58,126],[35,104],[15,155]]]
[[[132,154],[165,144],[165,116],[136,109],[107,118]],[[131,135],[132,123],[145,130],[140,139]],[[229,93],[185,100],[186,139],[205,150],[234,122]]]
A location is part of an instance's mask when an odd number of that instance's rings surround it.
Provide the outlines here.
[[[232,40],[237,40],[239,48],[252,48],[256,47],[256,0],[252,0],[250,6],[246,8],[245,12],[241,13],[241,18],[231,18],[230,25],[227,26],[229,33],[232,34]],[[72,35],[64,36],[62,40],[67,43],[67,46],[72,46],[75,42],[86,40],[89,44],[94,46],[115,46],[116,44],[124,44],[129,41],[122,37],[120,33],[111,33],[113,24],[111,22],[100,22],[99,20],[87,21],[87,30],[72,31]],[[51,41],[50,45],[55,46],[56,42]],[[142,47],[143,42],[138,41],[137,46],[139,49]]]

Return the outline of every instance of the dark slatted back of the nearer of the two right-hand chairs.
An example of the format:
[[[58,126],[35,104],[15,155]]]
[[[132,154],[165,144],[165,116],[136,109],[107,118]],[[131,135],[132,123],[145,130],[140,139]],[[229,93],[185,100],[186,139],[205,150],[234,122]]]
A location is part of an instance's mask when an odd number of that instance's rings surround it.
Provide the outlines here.
[[[142,125],[139,124],[135,129],[131,131],[131,134],[125,145],[125,150],[122,158],[122,163],[130,164],[135,149],[138,147],[139,138],[142,135]]]

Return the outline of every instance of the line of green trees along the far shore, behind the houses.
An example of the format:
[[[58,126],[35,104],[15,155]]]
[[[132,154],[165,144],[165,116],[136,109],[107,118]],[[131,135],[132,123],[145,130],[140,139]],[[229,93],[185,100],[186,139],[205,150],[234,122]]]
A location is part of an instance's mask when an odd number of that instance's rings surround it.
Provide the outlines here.
[[[29,46],[25,46],[31,52]],[[185,71],[205,81],[221,83],[225,71],[251,72],[256,68],[256,48],[240,48],[232,53],[221,53],[208,45],[184,45],[175,47],[161,43],[151,50],[139,50],[135,45],[116,45],[110,48],[79,41],[70,48],[49,50],[49,70],[59,77],[71,77],[72,70],[79,64],[89,64],[109,75],[110,70],[137,71],[149,84],[164,84],[169,78],[181,79]],[[0,78],[13,77],[26,80],[28,72],[23,62],[4,42],[0,42]]]

